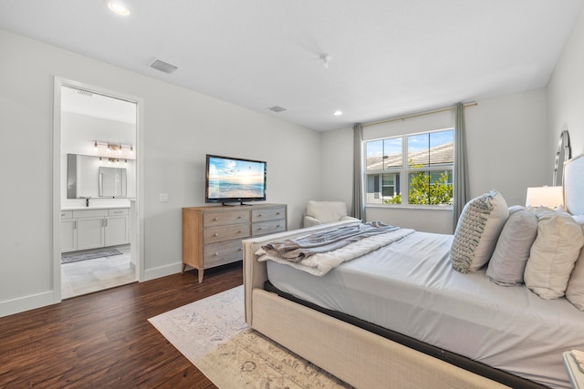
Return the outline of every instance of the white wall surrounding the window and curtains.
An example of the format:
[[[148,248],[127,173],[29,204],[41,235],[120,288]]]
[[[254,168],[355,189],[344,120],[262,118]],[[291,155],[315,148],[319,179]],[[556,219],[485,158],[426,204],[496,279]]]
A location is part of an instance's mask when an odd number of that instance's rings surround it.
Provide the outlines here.
[[[528,186],[551,184],[544,89],[478,101],[465,108],[464,116],[471,198],[497,189],[509,205],[525,204]],[[323,199],[350,204],[352,128],[328,131],[321,138]],[[453,230],[452,212],[444,210],[373,206],[367,207],[366,220],[429,232]]]

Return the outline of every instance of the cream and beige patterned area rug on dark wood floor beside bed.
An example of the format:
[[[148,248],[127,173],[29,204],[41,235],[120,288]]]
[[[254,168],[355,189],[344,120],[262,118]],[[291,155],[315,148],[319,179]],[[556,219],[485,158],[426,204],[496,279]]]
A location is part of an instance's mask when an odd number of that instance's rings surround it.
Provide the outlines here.
[[[221,389],[350,388],[251,329],[238,286],[149,319]]]

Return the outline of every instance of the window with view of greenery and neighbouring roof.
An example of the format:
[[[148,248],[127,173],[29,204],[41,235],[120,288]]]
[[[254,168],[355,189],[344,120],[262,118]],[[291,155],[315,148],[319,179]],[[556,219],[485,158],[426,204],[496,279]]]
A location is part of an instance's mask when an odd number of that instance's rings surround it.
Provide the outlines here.
[[[453,128],[370,140],[365,149],[368,204],[452,205]]]

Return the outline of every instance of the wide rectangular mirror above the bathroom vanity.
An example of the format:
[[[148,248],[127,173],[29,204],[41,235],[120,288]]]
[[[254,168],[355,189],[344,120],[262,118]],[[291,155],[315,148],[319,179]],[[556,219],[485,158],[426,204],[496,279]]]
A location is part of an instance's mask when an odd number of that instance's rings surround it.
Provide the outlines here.
[[[67,198],[133,198],[135,172],[133,159],[68,154]]]

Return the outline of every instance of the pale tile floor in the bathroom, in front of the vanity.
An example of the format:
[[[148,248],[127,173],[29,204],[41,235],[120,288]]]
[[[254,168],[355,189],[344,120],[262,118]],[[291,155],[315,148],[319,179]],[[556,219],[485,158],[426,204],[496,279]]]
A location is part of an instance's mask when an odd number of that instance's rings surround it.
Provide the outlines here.
[[[61,264],[61,298],[113,288],[136,281],[130,266],[130,245],[117,246],[120,255]]]

